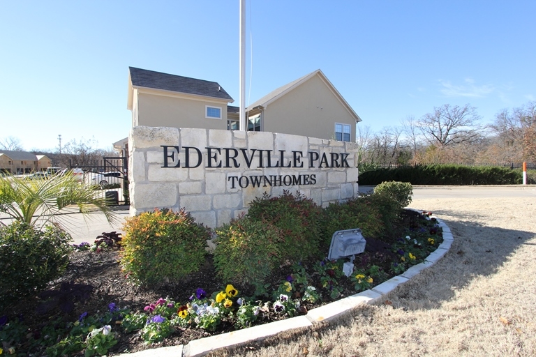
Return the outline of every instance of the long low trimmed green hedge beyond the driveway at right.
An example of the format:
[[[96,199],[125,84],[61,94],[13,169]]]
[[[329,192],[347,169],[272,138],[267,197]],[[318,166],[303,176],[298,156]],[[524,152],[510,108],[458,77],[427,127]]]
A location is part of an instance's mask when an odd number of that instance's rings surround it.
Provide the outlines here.
[[[521,172],[507,167],[464,165],[416,165],[382,168],[359,175],[359,185],[378,185],[385,181],[412,185],[518,185]]]

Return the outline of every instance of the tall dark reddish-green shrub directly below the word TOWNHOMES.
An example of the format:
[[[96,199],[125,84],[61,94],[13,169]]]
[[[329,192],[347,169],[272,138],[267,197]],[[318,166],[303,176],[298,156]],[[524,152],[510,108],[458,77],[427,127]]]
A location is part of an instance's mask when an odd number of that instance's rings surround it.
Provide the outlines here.
[[[283,190],[279,197],[265,193],[251,202],[247,216],[252,220],[271,222],[280,229],[278,247],[281,263],[318,256],[322,208],[312,199],[299,192],[292,195],[287,190]]]

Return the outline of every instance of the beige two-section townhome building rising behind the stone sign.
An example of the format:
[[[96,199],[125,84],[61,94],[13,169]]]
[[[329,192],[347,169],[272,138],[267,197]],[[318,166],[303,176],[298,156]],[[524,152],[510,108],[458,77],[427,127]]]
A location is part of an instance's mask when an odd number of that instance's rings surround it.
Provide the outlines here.
[[[217,82],[129,68],[132,126],[238,130],[239,108]],[[246,108],[249,131],[355,142],[361,121],[321,70],[272,91]],[[114,149],[126,147],[125,140]]]

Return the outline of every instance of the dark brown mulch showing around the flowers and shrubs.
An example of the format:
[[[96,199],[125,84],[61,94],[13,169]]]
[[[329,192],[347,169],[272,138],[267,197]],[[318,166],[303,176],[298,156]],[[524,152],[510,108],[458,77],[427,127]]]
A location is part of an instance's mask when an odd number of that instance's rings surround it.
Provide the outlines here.
[[[397,224],[394,236],[401,234],[404,227],[415,224],[417,217],[408,213],[403,215],[403,220]],[[358,255],[355,260],[357,268],[375,264],[389,271],[389,266],[393,260],[393,253],[390,245],[384,241],[389,241],[392,237],[384,237],[382,241],[373,238],[366,238],[366,251]],[[305,263],[307,266],[307,263]],[[272,287],[277,287],[287,275],[292,273],[290,266],[281,266],[270,278]],[[162,284],[158,287],[138,287],[126,280],[124,273],[119,266],[119,255],[117,251],[103,252],[73,252],[70,255],[66,273],[59,280],[49,284],[47,291],[40,294],[40,297],[26,298],[18,301],[9,307],[8,316],[16,317],[22,315],[24,324],[30,326],[29,333],[35,336],[40,335],[40,331],[49,321],[54,321],[61,317],[63,321],[77,321],[80,314],[88,312],[95,314],[105,312],[108,304],[116,303],[119,307],[130,307],[133,311],[143,311],[149,303],[154,303],[158,298],[172,298],[177,303],[186,303],[195,289],[202,287],[211,294],[214,291],[221,291],[225,284],[214,275],[214,266],[211,257],[198,273],[188,276],[180,284]],[[355,288],[349,279],[338,280],[344,288],[343,296],[355,294]],[[313,284],[318,286],[319,284]],[[241,296],[252,296],[252,287],[237,287]],[[322,294],[323,296],[327,294]],[[46,303],[45,303],[46,302]],[[323,303],[329,303],[328,300]],[[322,304],[322,303],[320,303]],[[317,304],[320,305],[320,304]],[[311,309],[313,305],[305,305],[306,309]],[[282,317],[267,314],[260,324],[281,319]],[[63,323],[65,323],[63,322]],[[186,328],[179,329],[164,342],[147,345],[138,337],[137,333],[121,333],[121,329],[114,329],[119,332],[119,343],[109,351],[109,354],[121,354],[126,351],[135,352],[144,349],[174,346],[177,344],[188,344],[189,341],[198,338],[226,333],[234,330],[230,324],[221,325],[216,333],[207,333],[201,329]],[[82,354],[80,354],[82,355]]]

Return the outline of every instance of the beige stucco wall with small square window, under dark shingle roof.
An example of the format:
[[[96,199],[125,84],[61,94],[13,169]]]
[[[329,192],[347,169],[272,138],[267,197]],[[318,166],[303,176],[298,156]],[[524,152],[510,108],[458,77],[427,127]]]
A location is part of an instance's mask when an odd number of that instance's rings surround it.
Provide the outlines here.
[[[207,105],[221,108],[222,118],[206,118]],[[140,92],[137,95],[137,125],[225,130],[227,102],[191,100]]]

